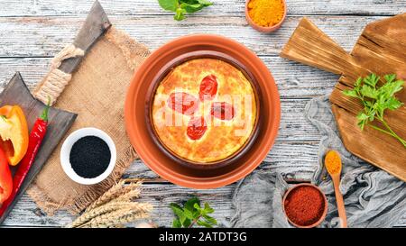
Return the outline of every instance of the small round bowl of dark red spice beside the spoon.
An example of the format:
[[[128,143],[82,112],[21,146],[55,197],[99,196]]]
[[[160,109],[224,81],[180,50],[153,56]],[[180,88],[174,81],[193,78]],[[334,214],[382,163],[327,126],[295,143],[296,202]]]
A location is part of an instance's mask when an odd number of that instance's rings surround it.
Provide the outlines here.
[[[283,196],[282,207],[292,225],[312,228],[326,218],[328,201],[320,188],[303,183],[288,189]]]

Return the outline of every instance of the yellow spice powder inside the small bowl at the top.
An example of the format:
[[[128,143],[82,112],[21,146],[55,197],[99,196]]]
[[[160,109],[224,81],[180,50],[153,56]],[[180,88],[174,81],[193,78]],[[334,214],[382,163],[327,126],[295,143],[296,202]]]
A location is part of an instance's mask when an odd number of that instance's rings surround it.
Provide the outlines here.
[[[270,27],[281,22],[284,5],[281,0],[251,0],[248,14],[254,23]]]

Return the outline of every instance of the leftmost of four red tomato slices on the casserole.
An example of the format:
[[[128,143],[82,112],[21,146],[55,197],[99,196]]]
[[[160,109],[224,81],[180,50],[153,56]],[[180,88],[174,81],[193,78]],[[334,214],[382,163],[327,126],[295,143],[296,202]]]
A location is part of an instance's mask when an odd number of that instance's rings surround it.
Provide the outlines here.
[[[198,98],[185,92],[174,92],[169,96],[167,104],[181,114],[191,115],[198,109]]]

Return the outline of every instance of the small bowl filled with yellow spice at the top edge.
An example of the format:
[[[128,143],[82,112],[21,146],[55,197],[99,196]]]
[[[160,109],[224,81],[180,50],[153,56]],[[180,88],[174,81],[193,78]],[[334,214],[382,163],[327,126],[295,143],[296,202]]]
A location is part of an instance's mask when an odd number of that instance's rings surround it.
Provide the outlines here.
[[[259,32],[274,32],[286,18],[285,0],[247,0],[245,18]]]

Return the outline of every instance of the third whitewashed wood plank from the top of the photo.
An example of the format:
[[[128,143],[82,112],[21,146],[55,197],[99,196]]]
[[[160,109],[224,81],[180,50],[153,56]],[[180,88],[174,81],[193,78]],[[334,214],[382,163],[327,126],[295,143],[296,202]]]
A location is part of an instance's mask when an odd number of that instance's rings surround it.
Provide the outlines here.
[[[261,57],[272,71],[281,98],[310,98],[329,94],[337,76],[280,57]],[[20,71],[30,89],[35,87],[49,69],[50,58],[0,59],[0,88]],[[282,119],[283,120],[283,119]]]

